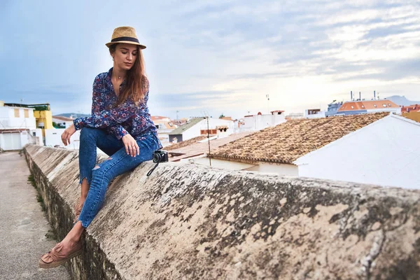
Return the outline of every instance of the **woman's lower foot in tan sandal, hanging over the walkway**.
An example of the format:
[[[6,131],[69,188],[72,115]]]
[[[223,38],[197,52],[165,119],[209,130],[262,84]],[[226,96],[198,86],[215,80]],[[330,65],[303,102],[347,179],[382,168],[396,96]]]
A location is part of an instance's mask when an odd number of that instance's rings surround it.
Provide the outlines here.
[[[41,255],[39,259],[38,265],[41,268],[52,268],[62,265],[67,260],[71,258],[77,257],[83,251],[82,241],[80,240],[74,248],[71,248],[70,252],[64,253],[62,252],[62,244],[61,242],[55,245],[48,253]]]

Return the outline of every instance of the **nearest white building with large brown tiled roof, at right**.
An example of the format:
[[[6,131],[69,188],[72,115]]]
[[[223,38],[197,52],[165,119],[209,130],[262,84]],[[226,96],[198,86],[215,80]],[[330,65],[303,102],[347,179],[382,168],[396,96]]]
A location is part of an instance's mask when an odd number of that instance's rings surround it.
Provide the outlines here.
[[[212,166],[420,189],[420,123],[389,113],[290,120],[212,153]]]

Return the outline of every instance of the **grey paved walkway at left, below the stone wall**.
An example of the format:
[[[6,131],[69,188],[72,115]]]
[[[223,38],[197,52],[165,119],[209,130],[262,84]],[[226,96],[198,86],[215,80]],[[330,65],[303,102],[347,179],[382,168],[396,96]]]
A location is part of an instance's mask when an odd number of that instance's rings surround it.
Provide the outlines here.
[[[0,153],[0,279],[70,279],[65,267],[38,268],[39,257],[56,241],[45,237],[50,226],[29,174],[24,156]]]

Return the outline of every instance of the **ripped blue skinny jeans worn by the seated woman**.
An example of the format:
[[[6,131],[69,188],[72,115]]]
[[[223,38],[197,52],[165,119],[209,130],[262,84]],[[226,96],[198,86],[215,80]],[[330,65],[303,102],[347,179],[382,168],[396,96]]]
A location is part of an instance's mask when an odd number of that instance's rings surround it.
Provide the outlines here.
[[[102,207],[109,182],[116,176],[134,169],[141,162],[152,160],[153,151],[160,148],[160,141],[154,134],[150,134],[146,139],[137,141],[137,145],[139,145],[140,154],[132,157],[127,155],[122,140],[107,134],[104,130],[83,127],[80,131],[79,183],[86,179],[90,185],[78,218],[84,228],[92,223]],[[109,155],[109,158],[99,165],[96,165],[97,148]]]

